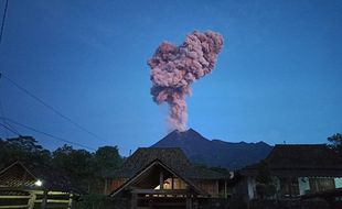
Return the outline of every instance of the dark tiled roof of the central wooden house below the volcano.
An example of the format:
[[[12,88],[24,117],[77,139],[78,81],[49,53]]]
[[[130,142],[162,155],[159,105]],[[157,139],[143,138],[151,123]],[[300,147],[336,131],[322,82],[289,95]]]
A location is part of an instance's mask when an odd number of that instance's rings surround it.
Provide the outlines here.
[[[131,178],[139,170],[145,168],[151,162],[159,160],[168,167],[171,167],[178,174],[192,179],[221,179],[227,176],[221,173],[194,167],[186,158],[183,151],[179,147],[140,147],[124,163],[120,169],[114,170],[106,177]]]

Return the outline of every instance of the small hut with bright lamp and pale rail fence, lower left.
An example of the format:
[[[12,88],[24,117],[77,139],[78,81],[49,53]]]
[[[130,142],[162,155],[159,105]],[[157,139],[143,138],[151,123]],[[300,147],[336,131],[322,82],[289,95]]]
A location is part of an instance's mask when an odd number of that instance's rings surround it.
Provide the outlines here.
[[[0,209],[72,207],[76,193],[65,176],[52,169],[28,167],[14,162],[0,170]]]

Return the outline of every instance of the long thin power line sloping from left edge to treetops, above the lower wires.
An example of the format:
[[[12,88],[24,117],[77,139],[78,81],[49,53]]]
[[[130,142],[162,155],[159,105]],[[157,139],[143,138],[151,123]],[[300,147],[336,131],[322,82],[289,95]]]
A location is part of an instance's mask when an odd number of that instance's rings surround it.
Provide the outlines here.
[[[41,105],[43,105],[45,108],[52,110],[54,113],[56,113],[57,116],[62,117],[64,120],[68,121],[70,123],[74,124],[75,127],[77,127],[79,130],[88,133],[89,135],[92,135],[93,138],[96,138],[97,140],[101,140],[105,141],[107,143],[109,143],[108,141],[101,139],[100,136],[98,136],[97,134],[88,131],[87,129],[85,129],[84,127],[82,127],[81,124],[78,124],[77,122],[73,121],[71,118],[66,117],[65,114],[61,113],[58,110],[56,110],[54,107],[50,106],[49,103],[46,103],[45,101],[43,101],[42,99],[40,99],[39,97],[34,96],[32,92],[30,92],[29,90],[26,90],[25,88],[23,88],[22,86],[20,86],[18,82],[15,82],[14,80],[10,79],[9,77],[7,77],[6,75],[0,73],[0,78],[3,77],[6,78],[8,81],[10,81],[12,85],[14,85],[17,88],[19,88],[20,90],[22,90],[23,92],[25,92],[26,95],[29,95],[31,98],[33,98],[34,100],[39,101]]]

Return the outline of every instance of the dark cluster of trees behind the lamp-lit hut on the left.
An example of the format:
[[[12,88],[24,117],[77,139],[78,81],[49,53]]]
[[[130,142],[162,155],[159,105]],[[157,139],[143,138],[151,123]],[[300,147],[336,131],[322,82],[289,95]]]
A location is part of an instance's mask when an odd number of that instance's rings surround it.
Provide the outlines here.
[[[0,139],[0,169],[20,161],[46,169],[54,168],[67,176],[78,189],[101,193],[104,174],[122,163],[117,146],[101,146],[95,152],[63,145],[53,152],[45,150],[32,136]]]

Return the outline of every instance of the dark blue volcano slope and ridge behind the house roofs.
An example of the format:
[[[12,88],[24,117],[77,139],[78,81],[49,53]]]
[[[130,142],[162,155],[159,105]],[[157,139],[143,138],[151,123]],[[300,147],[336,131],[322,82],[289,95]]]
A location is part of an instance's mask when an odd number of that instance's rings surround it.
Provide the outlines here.
[[[173,131],[152,147],[181,147],[192,163],[238,169],[265,158],[272,146],[265,142],[232,143],[207,140],[193,129]]]

